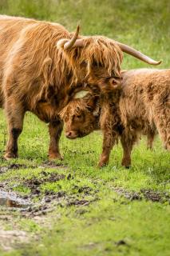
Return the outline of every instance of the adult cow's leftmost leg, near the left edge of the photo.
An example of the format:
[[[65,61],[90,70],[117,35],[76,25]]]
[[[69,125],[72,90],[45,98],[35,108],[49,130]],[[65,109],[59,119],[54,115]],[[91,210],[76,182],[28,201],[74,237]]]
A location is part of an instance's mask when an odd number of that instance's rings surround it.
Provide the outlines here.
[[[4,158],[9,160],[10,158],[18,158],[18,137],[22,133],[25,110],[22,103],[15,101],[14,98],[7,100],[5,110],[9,138]]]

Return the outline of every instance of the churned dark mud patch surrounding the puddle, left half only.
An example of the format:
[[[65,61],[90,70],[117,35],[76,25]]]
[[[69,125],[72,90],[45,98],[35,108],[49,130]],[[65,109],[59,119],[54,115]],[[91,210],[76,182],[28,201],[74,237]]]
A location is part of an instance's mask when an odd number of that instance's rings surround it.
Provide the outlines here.
[[[6,191],[4,192],[6,193],[6,197],[2,197],[2,205],[4,208],[8,207],[8,210],[10,211],[18,210],[21,212],[22,217],[34,218],[46,215],[57,207],[88,206],[90,203],[98,199],[96,196],[98,190],[94,190],[93,187],[90,186],[79,186],[79,180],[75,180],[75,182],[72,183],[73,179],[75,178],[73,174],[63,174],[59,171],[56,172],[56,170],[53,172],[48,170],[48,168],[58,167],[63,169],[63,167],[66,168],[66,166],[57,164],[55,162],[46,161],[42,164],[42,166],[39,167],[42,168],[42,171],[38,173],[38,177],[34,176],[32,178],[24,178],[19,180],[19,184],[22,187],[26,187],[30,190],[30,194],[21,195],[16,192],[11,192],[10,189],[13,188],[9,187],[8,181],[0,184],[1,190]],[[14,164],[6,166],[4,171],[10,169],[17,170],[19,168],[27,168],[27,166]],[[57,182],[60,180],[65,180],[65,182],[70,181],[70,190],[67,192],[62,190],[60,184],[57,184]],[[18,182],[18,180],[16,180],[16,182]],[[57,191],[50,189],[42,190],[42,185],[48,182],[56,182]]]

